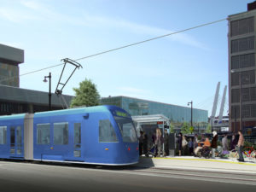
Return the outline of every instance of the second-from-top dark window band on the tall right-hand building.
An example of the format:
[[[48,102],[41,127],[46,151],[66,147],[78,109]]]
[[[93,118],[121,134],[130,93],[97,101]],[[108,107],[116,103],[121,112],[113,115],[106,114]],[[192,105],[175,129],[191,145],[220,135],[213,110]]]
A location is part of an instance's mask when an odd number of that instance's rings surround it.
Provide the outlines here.
[[[231,41],[231,52],[241,52],[254,49],[254,37],[240,38]]]

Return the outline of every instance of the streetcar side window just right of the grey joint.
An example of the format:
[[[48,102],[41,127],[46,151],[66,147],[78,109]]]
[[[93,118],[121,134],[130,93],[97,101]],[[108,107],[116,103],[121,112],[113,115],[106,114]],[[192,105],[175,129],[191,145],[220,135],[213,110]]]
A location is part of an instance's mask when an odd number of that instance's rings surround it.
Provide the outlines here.
[[[49,124],[37,125],[37,143],[49,144]]]

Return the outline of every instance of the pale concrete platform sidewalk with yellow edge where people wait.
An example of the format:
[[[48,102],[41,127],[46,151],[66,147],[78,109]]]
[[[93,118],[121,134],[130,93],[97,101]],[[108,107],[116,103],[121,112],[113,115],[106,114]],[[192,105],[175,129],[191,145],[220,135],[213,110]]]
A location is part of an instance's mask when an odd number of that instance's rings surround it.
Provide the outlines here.
[[[255,162],[239,162],[235,159],[204,159],[194,156],[141,157],[139,163],[135,166],[207,172],[236,172],[256,175]]]

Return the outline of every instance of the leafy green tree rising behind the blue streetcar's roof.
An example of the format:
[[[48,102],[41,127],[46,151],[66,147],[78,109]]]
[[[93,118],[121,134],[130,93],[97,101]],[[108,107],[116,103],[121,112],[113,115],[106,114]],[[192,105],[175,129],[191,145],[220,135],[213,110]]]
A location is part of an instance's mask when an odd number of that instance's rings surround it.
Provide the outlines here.
[[[71,102],[71,108],[79,106],[96,106],[100,104],[100,94],[90,79],[79,83],[79,88],[73,88],[75,97]]]

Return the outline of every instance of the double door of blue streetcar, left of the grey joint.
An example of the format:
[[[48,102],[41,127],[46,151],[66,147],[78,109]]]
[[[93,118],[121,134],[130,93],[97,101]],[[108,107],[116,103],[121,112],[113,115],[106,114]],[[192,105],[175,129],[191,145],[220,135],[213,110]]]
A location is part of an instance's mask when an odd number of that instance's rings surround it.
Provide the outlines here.
[[[23,128],[21,126],[10,127],[10,157],[23,157]]]

